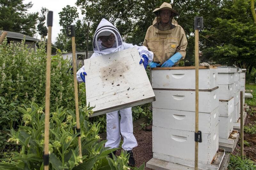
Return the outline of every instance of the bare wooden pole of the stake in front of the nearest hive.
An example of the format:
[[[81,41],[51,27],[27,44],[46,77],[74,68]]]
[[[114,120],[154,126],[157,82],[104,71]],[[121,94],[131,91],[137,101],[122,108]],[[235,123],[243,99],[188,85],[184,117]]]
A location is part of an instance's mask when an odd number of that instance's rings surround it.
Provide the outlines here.
[[[196,67],[196,117],[195,132],[198,132],[198,70],[199,70],[199,31],[195,30],[195,67]],[[195,142],[195,169],[198,169],[198,142]]]

